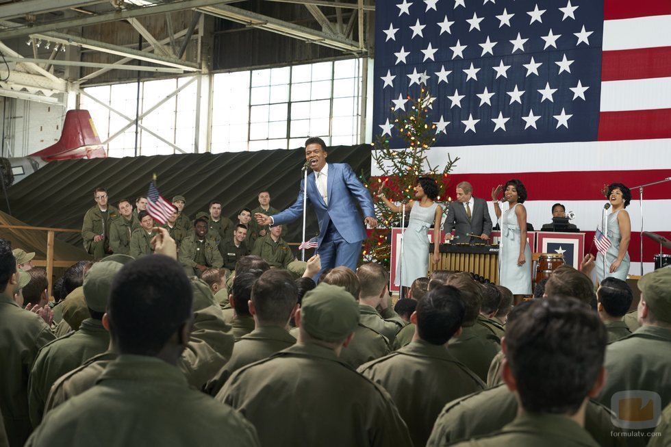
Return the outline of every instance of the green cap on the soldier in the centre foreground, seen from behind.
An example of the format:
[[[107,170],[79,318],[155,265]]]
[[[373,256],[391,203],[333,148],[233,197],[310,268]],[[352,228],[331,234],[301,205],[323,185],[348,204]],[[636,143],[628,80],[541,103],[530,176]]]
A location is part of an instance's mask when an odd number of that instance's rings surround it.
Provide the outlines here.
[[[338,285],[321,283],[303,296],[301,327],[325,342],[342,342],[357,329],[359,305]]]

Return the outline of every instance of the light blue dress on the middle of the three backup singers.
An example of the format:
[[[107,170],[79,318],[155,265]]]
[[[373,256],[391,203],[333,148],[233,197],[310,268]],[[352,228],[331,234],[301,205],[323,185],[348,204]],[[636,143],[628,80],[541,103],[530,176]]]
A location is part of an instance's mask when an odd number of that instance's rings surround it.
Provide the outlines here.
[[[517,265],[517,259],[520,256],[520,225],[517,222],[515,208],[520,205],[516,203],[514,207],[503,212],[501,218],[501,251],[498,253],[498,262],[501,277],[498,283],[510,289],[514,295],[531,294],[531,249],[529,243],[524,240],[524,259],[523,266]]]

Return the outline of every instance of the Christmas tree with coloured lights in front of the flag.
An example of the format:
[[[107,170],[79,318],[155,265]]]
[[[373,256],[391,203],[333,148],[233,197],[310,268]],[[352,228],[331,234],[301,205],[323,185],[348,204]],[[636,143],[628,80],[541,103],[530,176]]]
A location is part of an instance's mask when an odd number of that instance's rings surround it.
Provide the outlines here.
[[[386,268],[390,267],[390,229],[401,226],[402,216],[392,212],[382,201],[377,200],[377,196],[384,194],[392,202],[407,203],[414,199],[414,187],[418,177],[429,177],[438,183],[437,200],[444,202],[445,191],[449,184],[449,172],[459,159],[459,157],[452,159],[450,155],[447,155],[446,164],[442,168],[429,163],[428,151],[435,143],[438,131],[442,130],[437,130],[435,123],[429,121],[429,109],[435,98],[431,97],[429,90],[422,85],[418,98],[413,99],[408,95],[407,99],[412,103],[409,110],[405,111],[403,108],[403,112],[396,112],[395,108],[391,107],[393,123],[387,120],[387,123],[381,126],[382,135],[377,137],[375,143],[372,143],[375,147],[372,159],[377,164],[381,175],[371,178],[370,182],[364,181],[377,202],[375,207],[377,228],[373,229],[370,238],[364,243],[364,260],[375,260]],[[390,147],[392,128],[405,142],[404,149]],[[448,202],[442,203],[444,213],[447,212],[448,206]],[[407,218],[406,215],[406,221]]]

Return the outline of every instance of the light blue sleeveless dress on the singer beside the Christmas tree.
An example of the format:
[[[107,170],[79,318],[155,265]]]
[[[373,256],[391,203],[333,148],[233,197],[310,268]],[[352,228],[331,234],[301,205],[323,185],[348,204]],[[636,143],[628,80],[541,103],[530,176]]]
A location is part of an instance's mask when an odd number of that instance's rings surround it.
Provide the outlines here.
[[[408,226],[403,233],[403,255],[401,255],[401,262],[396,263],[396,285],[399,285],[398,279],[400,278],[400,285],[410,287],[412,281],[426,277],[429,273],[427,231],[433,225],[437,206],[438,203],[435,202],[430,207],[421,207],[419,201],[412,204]]]

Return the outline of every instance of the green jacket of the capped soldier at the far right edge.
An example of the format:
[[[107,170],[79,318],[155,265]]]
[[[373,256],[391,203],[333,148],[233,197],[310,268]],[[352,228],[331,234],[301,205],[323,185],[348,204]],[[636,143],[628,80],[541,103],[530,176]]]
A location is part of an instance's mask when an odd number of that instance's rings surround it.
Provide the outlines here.
[[[604,367],[606,383],[598,397],[603,405],[610,406],[616,392],[642,389],[657,392],[666,407],[671,403],[671,329],[644,324],[607,346]],[[645,445],[649,438],[627,439]]]

